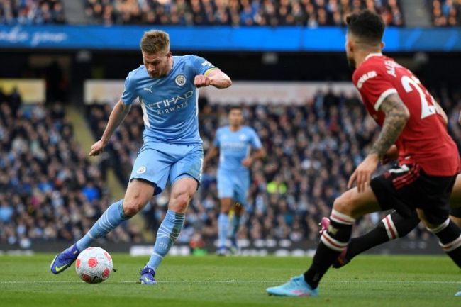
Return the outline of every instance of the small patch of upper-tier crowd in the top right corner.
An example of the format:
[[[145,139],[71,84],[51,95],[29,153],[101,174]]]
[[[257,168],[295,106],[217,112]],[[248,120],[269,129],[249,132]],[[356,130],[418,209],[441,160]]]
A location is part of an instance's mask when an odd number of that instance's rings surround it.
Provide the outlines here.
[[[433,25],[461,26],[460,0],[431,0]]]

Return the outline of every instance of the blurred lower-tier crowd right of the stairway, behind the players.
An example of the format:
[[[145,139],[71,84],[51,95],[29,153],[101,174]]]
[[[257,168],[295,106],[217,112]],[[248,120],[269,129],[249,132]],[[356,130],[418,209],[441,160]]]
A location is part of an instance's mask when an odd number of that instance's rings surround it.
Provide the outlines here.
[[[449,111],[450,133],[461,145],[461,129],[457,124],[461,97],[440,91],[435,98]],[[89,121],[96,138],[104,130],[110,111],[111,106],[89,107]],[[252,184],[238,238],[316,240],[318,222],[329,215],[335,197],[346,190],[348,177],[377,137],[377,125],[357,97],[335,95],[331,91],[319,91],[304,106],[244,106],[243,113],[245,123],[257,130],[268,155],[251,167]],[[212,144],[216,129],[226,125],[227,115],[226,106],[201,101],[199,118],[205,151]],[[142,143],[140,118],[141,108],[133,106],[101,160],[101,172],[113,167],[123,185],[128,182]],[[206,165],[179,242],[217,237],[216,167],[217,160]],[[165,216],[169,194],[170,189],[166,189],[143,211],[151,233],[155,233]],[[380,218],[379,213],[365,216],[354,228],[354,235],[370,230]],[[410,235],[411,238],[427,236],[423,227]]]

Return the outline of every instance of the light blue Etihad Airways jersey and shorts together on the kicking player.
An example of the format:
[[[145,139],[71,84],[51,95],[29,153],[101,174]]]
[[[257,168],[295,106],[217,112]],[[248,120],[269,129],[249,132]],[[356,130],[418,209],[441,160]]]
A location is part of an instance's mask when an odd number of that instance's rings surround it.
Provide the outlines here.
[[[139,98],[143,108],[144,145],[138,152],[130,181],[143,179],[155,184],[160,194],[167,182],[183,177],[201,181],[204,158],[199,135],[196,75],[217,69],[195,55],[173,57],[167,76],[152,79],[144,65],[133,70],[125,80],[122,101],[133,104]]]

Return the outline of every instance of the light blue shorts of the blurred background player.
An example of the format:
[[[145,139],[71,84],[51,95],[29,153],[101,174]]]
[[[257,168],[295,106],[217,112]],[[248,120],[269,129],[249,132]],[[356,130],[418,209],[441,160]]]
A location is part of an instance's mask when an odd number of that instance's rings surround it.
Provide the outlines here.
[[[218,170],[218,197],[231,198],[238,203],[247,203],[250,176],[241,172]]]

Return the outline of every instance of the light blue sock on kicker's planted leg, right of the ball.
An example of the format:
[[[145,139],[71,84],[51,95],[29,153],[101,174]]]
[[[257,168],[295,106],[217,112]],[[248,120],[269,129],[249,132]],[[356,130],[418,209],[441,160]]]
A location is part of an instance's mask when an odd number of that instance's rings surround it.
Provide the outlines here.
[[[172,247],[174,241],[178,238],[182,230],[182,225],[184,225],[184,217],[184,213],[176,213],[171,210],[167,211],[165,218],[157,230],[154,252],[152,252],[152,256],[150,256],[148,267],[156,270],[160,265],[163,257],[167,255],[170,247]]]

